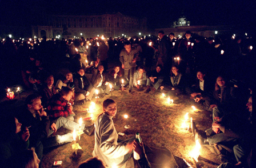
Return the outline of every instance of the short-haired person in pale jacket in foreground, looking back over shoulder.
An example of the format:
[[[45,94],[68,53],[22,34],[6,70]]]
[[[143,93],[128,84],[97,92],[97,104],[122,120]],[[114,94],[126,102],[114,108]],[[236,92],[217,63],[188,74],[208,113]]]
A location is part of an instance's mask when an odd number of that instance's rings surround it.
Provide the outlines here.
[[[93,157],[98,156],[106,167],[134,167],[133,159],[129,159],[133,154],[133,139],[130,142],[118,143],[118,134],[115,130],[113,117],[117,114],[117,104],[113,99],[103,101],[103,113],[95,122],[95,145]]]

